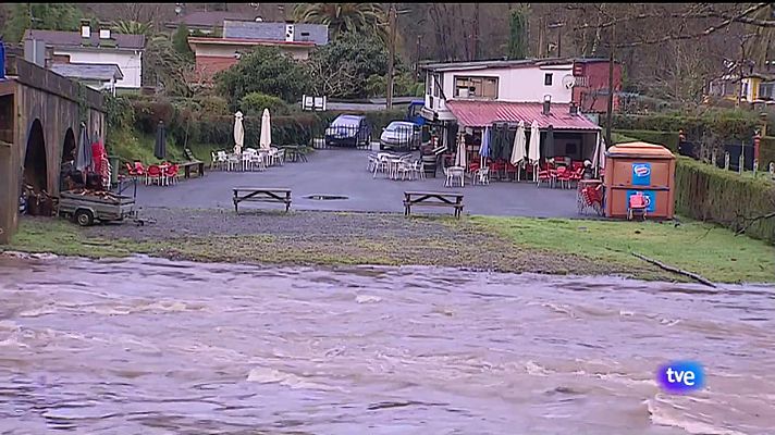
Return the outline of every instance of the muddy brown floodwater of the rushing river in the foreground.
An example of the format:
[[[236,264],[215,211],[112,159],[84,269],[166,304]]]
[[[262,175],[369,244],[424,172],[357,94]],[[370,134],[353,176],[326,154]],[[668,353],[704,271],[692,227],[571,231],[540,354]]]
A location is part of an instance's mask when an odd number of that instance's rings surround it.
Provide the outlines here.
[[[0,434],[775,433],[766,286],[0,257]]]

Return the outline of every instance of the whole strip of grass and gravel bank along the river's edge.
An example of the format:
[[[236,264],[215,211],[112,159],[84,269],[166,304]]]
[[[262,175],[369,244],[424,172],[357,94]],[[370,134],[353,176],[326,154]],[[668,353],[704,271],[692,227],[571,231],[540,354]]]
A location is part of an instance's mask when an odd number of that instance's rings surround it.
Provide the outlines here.
[[[775,282],[775,247],[698,222],[149,209],[155,224],[79,228],[25,219],[9,247],[63,256],[147,253],[274,264],[442,265],[502,272],[680,279],[637,252],[717,282]]]

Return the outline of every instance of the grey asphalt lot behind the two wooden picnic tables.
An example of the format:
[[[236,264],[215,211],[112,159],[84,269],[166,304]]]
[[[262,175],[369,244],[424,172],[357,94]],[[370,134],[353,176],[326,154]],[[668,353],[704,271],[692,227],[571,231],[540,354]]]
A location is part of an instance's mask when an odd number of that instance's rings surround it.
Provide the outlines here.
[[[405,190],[462,191],[465,212],[470,214],[537,217],[578,217],[575,189],[552,189],[534,183],[491,182],[489,186],[444,187],[439,170],[435,178],[392,181],[383,174],[372,178],[366,171],[368,151],[316,150],[306,163],[287,162],[265,172],[206,172],[205,177],[182,179],[174,186],[137,187],[140,207],[233,209],[233,187],[287,187],[293,190],[292,210],[404,212]],[[344,196],[344,200],[316,200],[307,196]],[[281,204],[244,203],[248,208]],[[241,210],[243,204],[241,204]],[[420,213],[447,213],[446,208],[419,208]],[[414,210],[413,210],[414,212]]]

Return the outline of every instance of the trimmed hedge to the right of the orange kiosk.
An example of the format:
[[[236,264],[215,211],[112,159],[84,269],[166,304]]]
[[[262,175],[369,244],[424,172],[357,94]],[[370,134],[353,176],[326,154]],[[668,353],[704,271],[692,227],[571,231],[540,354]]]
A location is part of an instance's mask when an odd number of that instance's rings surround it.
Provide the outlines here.
[[[775,185],[766,179],[678,158],[675,178],[676,211],[738,231],[748,219],[775,212]],[[751,224],[746,234],[775,245],[775,217]]]

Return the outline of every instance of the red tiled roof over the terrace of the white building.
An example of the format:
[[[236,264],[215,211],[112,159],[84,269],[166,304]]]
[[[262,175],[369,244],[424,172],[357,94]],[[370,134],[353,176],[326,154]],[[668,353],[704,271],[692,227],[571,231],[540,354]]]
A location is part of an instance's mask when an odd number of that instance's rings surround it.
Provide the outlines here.
[[[550,125],[554,129],[600,129],[600,126],[582,114],[571,115],[570,104],[552,103],[548,115],[542,113],[540,102],[506,102],[506,101],[470,101],[447,100],[446,107],[460,125],[467,127],[484,127],[496,122],[518,123],[525,121],[530,127],[533,120],[539,128]]]

